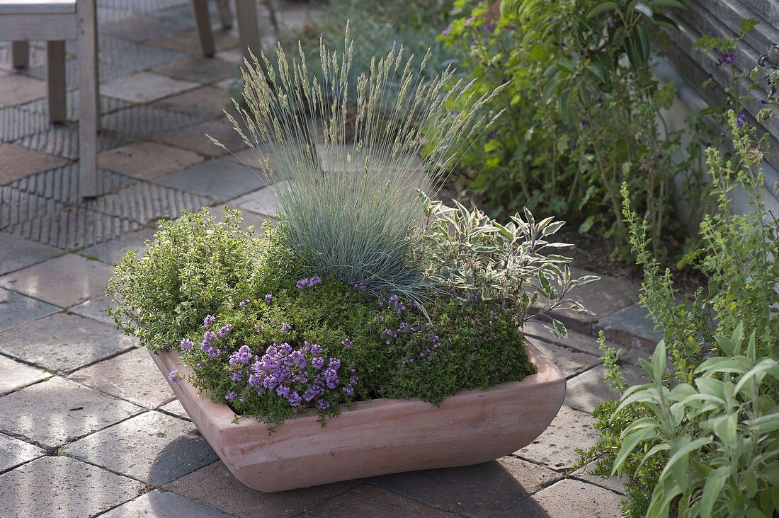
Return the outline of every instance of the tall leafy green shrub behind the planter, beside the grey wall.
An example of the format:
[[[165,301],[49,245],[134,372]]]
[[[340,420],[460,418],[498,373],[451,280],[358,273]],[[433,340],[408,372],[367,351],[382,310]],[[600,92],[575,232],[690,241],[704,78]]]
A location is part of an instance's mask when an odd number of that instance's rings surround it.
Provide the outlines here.
[[[506,115],[463,158],[469,185],[502,210],[540,207],[597,227],[627,256],[627,181],[663,252],[673,179],[689,164],[672,160],[680,135],[658,117],[675,86],[652,76],[650,33],[675,28],[663,13],[681,2],[506,0],[494,20],[491,4],[458,0],[464,14],[442,36],[477,91],[509,83],[492,103]]]

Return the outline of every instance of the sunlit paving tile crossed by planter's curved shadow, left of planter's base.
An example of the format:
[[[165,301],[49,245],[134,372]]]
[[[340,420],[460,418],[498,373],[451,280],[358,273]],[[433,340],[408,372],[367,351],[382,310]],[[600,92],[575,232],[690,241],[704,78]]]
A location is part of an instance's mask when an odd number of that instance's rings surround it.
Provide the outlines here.
[[[218,459],[192,423],[154,411],[79,439],[62,451],[153,486]]]

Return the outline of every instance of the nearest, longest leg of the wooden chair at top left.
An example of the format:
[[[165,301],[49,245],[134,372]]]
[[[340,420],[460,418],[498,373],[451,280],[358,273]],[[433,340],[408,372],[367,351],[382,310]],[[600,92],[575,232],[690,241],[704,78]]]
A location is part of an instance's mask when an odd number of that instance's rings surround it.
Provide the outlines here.
[[[97,12],[92,0],[76,0],[79,57],[79,193],[97,196]]]

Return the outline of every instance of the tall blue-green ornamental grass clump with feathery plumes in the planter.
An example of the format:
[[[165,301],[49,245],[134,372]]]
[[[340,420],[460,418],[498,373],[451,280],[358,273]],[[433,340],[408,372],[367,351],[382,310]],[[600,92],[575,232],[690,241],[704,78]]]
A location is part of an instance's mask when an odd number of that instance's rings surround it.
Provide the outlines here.
[[[497,115],[479,108],[499,90],[479,97],[464,93],[474,90],[464,80],[448,87],[453,69],[425,80],[430,52],[415,65],[397,46],[350,74],[348,26],[344,49],[320,41],[317,73],[300,44],[297,59],[279,45],[276,62],[245,60],[243,100],[235,102],[237,116],[227,116],[263,174],[286,180],[274,187],[280,224],[303,266],[374,294],[425,298],[429,281],[415,249],[425,210],[418,192],[430,192],[457,148],[492,125]],[[449,111],[455,104],[467,109]]]

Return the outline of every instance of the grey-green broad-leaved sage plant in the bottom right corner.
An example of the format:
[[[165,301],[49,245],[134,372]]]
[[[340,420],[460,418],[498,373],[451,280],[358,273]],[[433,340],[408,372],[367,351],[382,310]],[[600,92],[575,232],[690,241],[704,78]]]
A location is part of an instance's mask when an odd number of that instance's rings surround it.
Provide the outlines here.
[[[698,366],[693,383],[671,389],[665,344],[658,344],[650,362],[641,360],[650,382],[627,389],[612,415],[635,405],[645,414],[622,432],[612,474],[636,452],[641,463],[664,460],[647,516],[671,508],[704,518],[779,510],[779,406],[768,395],[779,363],[757,356],[755,333],[745,340],[743,324],[715,340],[723,355]]]

